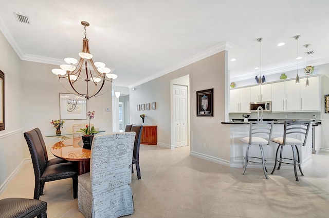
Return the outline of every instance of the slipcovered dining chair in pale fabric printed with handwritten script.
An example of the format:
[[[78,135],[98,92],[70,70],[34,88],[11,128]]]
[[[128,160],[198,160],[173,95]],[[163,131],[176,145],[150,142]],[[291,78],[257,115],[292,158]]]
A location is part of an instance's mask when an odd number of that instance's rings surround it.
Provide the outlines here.
[[[90,172],[78,178],[78,206],[85,217],[120,217],[134,212],[134,140],[135,132],[94,137]]]

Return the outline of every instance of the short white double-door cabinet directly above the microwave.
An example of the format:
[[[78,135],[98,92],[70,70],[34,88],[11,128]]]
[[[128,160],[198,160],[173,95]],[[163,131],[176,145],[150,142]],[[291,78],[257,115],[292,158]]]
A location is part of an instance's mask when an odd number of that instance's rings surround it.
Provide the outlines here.
[[[272,100],[272,84],[255,85],[250,87],[250,102]]]

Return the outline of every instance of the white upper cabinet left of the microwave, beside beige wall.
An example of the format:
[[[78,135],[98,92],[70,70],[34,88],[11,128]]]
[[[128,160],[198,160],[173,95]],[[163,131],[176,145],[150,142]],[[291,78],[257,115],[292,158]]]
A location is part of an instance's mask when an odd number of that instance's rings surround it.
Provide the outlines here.
[[[250,112],[250,87],[230,91],[230,113]]]

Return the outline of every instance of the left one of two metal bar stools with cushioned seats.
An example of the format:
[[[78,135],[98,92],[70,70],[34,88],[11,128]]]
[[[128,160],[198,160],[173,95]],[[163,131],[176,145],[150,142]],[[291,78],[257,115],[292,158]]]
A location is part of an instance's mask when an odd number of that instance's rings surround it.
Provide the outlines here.
[[[248,165],[248,162],[252,163],[261,163],[263,165],[263,171],[265,178],[268,179],[267,177],[267,170],[265,166],[266,160],[264,159],[264,150],[262,145],[268,145],[269,140],[272,135],[272,129],[273,129],[273,123],[274,121],[250,121],[249,124],[249,137],[244,137],[240,139],[244,143],[248,144],[247,150],[246,150],[246,156],[245,156],[245,167],[242,172],[244,175],[246,172],[246,168]],[[261,150],[261,155],[262,157],[249,157],[249,147],[250,145],[259,145],[259,148]],[[259,161],[253,161],[249,160],[249,158],[252,159],[260,159],[262,162]]]

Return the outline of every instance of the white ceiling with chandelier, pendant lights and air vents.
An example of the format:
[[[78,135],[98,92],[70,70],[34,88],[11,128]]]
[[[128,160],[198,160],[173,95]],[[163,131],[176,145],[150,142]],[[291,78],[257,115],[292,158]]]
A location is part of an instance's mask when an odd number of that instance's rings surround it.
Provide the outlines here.
[[[78,58],[87,28],[94,61],[115,68],[114,85],[140,84],[227,49],[231,80],[329,63],[329,1],[0,0],[0,30],[23,60]],[[17,22],[14,13],[29,17]],[[285,45],[278,47],[279,42]],[[232,62],[230,59],[235,58]],[[50,73],[51,72],[39,72]],[[202,74],[202,72],[200,72]],[[57,77],[54,76],[54,80]]]

